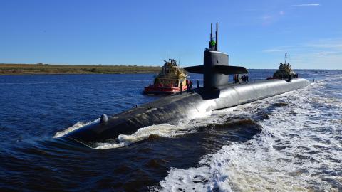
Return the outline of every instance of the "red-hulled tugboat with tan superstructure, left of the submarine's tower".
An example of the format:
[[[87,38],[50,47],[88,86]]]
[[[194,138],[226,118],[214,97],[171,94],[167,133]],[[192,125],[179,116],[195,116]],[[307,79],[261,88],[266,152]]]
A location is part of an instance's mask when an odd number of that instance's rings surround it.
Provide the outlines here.
[[[170,95],[187,90],[187,72],[177,65],[175,59],[164,60],[162,70],[153,85],[144,88],[145,94]]]

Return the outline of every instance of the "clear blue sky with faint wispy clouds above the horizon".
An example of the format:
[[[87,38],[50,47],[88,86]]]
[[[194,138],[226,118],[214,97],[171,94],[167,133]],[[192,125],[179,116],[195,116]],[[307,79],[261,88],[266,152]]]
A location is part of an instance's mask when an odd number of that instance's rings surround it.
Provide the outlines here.
[[[200,65],[210,23],[230,65],[342,69],[342,1],[0,0],[0,63]]]

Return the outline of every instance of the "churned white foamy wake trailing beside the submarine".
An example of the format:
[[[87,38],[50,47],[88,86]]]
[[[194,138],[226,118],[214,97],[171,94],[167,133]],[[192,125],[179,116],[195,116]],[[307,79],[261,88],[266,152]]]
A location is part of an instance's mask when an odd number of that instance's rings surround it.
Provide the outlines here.
[[[234,112],[216,114],[249,117],[257,109],[288,103],[258,123],[262,131],[253,139],[223,146],[195,167],[171,168],[155,191],[338,191],[336,185],[342,182],[342,100],[322,91],[327,83],[332,82],[318,81],[237,107]]]

